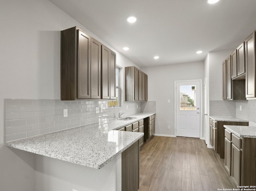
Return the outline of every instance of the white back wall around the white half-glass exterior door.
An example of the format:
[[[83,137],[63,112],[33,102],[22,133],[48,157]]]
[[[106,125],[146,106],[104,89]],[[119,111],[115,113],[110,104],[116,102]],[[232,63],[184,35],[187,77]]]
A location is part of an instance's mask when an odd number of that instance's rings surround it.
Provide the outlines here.
[[[148,74],[148,101],[156,101],[156,134],[174,135],[174,81],[203,81],[204,62],[146,67],[141,70]],[[167,103],[167,99],[171,102]],[[170,125],[170,129],[167,129],[167,125]]]

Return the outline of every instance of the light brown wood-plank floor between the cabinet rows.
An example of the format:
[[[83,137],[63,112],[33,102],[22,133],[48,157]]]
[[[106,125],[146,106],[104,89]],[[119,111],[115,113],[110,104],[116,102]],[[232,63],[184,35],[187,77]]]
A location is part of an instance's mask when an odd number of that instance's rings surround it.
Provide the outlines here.
[[[204,140],[153,136],[140,149],[139,191],[233,188],[222,161]]]

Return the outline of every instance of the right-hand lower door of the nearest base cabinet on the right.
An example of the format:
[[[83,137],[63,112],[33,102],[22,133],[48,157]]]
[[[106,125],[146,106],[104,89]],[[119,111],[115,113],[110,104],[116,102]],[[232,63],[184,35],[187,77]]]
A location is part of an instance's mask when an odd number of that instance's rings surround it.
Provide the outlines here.
[[[241,150],[232,144],[231,155],[231,176],[234,179],[236,185],[241,183]]]

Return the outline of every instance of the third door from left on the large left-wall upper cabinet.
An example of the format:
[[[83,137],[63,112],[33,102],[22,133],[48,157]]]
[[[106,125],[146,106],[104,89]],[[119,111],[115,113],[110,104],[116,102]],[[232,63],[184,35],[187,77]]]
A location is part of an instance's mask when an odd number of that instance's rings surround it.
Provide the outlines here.
[[[110,99],[110,49],[102,45],[102,99]]]

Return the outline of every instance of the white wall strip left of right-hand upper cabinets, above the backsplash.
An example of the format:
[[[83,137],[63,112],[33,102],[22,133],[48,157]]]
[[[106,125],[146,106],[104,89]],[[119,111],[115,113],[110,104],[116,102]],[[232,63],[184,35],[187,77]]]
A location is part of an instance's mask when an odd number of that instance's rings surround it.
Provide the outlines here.
[[[226,60],[232,50],[209,52],[209,100],[222,99],[222,62]]]

